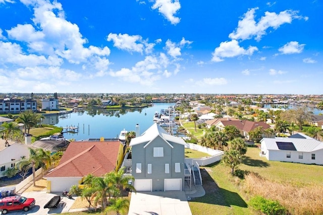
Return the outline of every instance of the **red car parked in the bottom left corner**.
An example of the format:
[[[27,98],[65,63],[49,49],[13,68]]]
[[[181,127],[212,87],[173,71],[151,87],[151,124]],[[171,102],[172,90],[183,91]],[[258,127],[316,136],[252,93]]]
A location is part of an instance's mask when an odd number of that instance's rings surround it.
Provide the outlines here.
[[[23,196],[8,196],[0,200],[0,210],[2,214],[7,214],[11,210],[28,211],[35,205],[34,198],[26,198]]]

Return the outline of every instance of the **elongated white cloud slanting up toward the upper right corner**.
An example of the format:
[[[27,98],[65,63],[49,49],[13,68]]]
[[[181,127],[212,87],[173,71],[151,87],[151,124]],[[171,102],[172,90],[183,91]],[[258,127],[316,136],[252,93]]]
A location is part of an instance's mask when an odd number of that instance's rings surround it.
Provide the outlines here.
[[[286,10],[279,14],[274,12],[265,12],[264,16],[255,21],[255,11],[258,8],[252,8],[247,11],[242,17],[242,20],[238,22],[238,27],[229,34],[231,39],[251,39],[259,41],[263,35],[266,34],[268,28],[274,28],[275,30],[285,23],[291,23],[293,19],[301,19],[301,16],[297,16],[297,11]]]

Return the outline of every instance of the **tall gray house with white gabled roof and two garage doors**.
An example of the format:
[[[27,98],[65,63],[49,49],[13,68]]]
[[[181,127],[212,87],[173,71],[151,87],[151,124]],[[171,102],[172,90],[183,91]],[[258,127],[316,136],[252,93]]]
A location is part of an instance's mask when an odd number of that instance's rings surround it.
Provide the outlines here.
[[[156,123],[131,139],[136,190],[184,190],[184,145],[182,138],[168,134]]]

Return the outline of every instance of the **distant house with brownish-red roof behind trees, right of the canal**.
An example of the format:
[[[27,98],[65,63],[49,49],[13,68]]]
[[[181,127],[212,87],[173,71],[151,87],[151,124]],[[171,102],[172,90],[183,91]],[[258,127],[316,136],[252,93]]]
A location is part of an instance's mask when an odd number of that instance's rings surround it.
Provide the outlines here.
[[[220,120],[216,124],[214,124],[214,126],[216,126],[216,129],[218,130],[225,130],[225,127],[228,125],[236,126],[240,130],[240,133],[247,139],[249,139],[249,132],[251,130],[260,126],[263,130],[271,127],[264,122],[253,122],[249,120]]]

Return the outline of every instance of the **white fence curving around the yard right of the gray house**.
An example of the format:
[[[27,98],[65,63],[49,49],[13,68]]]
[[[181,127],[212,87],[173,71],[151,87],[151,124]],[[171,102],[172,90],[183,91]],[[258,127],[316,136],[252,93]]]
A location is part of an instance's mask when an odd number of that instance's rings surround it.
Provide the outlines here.
[[[202,147],[197,144],[186,144],[186,148],[191,150],[197,150],[200,152],[207,153],[211,155],[210,157],[203,157],[203,158],[185,158],[185,162],[189,163],[191,166],[196,162],[199,166],[206,166],[212,164],[214,162],[220,161],[224,152],[220,150],[213,150],[207,147]]]

